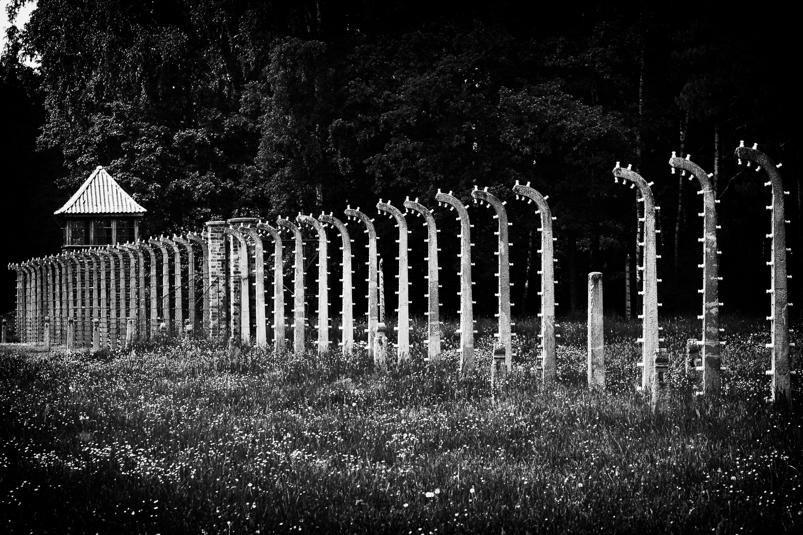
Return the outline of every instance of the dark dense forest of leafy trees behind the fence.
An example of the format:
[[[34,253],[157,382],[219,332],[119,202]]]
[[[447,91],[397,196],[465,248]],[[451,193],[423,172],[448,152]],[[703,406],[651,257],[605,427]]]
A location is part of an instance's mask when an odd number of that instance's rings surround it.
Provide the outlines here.
[[[12,20],[23,3],[10,3]],[[676,151],[717,184],[724,311],[763,316],[769,193],[761,173],[736,166],[740,140],[783,163],[788,243],[803,245],[799,46],[791,14],[767,9],[39,0],[8,31],[0,62],[0,309],[13,308],[6,262],[59,250],[52,213],[100,164],[149,209],[152,234],[235,216],[342,217],[347,203],[373,213],[379,198],[420,197],[443,230],[445,289],[457,281],[458,229],[434,193],[469,204],[476,184],[509,200],[516,180],[531,181],[557,217],[558,310],[583,310],[586,274],[599,270],[606,306],[621,312],[637,217],[634,192],[613,182],[622,161],[654,181],[659,301],[686,313],[699,307],[702,199],[671,174]],[[533,312],[539,221],[532,206],[507,208],[512,296],[517,313]],[[478,309],[492,314],[495,221],[483,207],[470,213]],[[377,219],[380,253],[393,274],[387,221]],[[424,232],[410,227],[414,280]],[[791,262],[795,296],[803,273]]]

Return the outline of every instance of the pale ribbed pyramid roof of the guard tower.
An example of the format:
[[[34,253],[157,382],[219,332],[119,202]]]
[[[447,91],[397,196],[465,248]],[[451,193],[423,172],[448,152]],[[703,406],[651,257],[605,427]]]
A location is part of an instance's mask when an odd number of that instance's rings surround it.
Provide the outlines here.
[[[98,166],[58,213],[145,213],[108,172]]]

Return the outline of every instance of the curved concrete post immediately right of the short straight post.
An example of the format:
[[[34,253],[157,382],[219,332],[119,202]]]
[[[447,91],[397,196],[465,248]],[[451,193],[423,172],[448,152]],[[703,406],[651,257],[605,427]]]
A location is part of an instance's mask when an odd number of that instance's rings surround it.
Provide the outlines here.
[[[630,165],[626,169],[616,163],[613,168],[613,176],[621,178],[622,180],[630,180],[638,188],[642,197],[637,199],[638,202],[644,203],[644,241],[641,245],[644,248],[644,265],[636,266],[637,270],[642,270],[644,276],[642,277],[642,391],[645,394],[654,391],[655,381],[655,355],[659,347],[658,340],[658,278],[657,269],[655,265],[655,201],[650,189],[650,184],[642,178],[637,172],[630,169]]]

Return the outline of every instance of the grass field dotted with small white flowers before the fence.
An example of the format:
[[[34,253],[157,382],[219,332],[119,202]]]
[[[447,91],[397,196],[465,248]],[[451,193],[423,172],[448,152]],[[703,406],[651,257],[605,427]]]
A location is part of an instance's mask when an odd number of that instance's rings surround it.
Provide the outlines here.
[[[686,338],[666,407],[640,383],[639,326],[606,318],[608,388],[585,386],[585,321],[560,321],[559,383],[537,324],[491,401],[491,322],[459,380],[457,339],[388,374],[366,355],[209,342],[0,355],[4,533],[766,533],[803,525],[801,403],[773,407],[768,326],[724,321],[720,399],[691,395]],[[414,347],[426,338],[417,323]],[[449,331],[453,331],[450,329]],[[797,387],[797,383],[793,383]],[[797,528],[794,526],[797,525]]]

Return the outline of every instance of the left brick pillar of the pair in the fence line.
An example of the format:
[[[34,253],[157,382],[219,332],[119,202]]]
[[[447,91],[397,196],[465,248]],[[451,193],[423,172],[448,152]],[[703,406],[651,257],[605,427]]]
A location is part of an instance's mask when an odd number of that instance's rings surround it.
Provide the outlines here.
[[[207,221],[210,275],[210,338],[228,338],[228,279],[226,255],[226,221]]]

